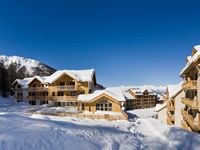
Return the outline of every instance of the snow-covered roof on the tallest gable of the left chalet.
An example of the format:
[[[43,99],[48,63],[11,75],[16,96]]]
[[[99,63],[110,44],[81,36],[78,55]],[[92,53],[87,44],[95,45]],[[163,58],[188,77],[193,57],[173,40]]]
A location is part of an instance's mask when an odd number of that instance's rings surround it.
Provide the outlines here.
[[[48,78],[46,78],[46,83],[52,83],[59,77],[61,77],[63,74],[69,75],[71,78],[82,81],[82,82],[90,82],[93,79],[93,75],[95,73],[94,69],[89,70],[59,70],[50,75]]]

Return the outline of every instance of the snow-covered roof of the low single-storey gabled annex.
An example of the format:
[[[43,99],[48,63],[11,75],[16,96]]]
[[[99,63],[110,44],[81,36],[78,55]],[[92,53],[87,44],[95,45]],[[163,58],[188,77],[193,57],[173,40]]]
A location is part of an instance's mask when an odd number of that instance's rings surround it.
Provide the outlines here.
[[[120,87],[108,87],[104,90],[96,90],[91,94],[81,94],[78,96],[78,101],[89,102],[102,94],[106,94],[119,102],[126,101]]]

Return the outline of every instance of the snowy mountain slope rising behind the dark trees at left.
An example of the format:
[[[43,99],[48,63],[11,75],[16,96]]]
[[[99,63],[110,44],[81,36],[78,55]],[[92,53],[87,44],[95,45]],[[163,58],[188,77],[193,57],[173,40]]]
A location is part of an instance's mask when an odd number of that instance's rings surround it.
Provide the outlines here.
[[[25,69],[25,72],[29,75],[39,75],[38,72],[43,72],[44,75],[50,75],[55,72],[55,69],[45,65],[37,60],[19,57],[19,56],[5,56],[0,55],[0,64],[7,69],[11,64],[15,64],[16,71]]]

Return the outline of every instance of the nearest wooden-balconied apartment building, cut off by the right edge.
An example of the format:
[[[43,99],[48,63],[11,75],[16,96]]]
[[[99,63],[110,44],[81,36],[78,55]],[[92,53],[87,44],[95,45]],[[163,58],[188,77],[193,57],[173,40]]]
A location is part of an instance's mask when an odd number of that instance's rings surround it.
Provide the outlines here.
[[[192,55],[186,58],[186,66],[180,76],[184,79],[182,88],[185,95],[181,102],[183,120],[182,127],[200,133],[200,45],[195,46]]]

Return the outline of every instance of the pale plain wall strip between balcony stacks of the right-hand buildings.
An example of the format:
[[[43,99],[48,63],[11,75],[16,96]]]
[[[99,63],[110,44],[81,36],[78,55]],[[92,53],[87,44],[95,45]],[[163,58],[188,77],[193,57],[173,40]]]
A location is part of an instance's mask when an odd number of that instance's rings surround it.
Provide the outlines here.
[[[181,127],[181,120],[183,117],[181,115],[181,109],[184,108],[184,104],[181,103],[181,98],[185,97],[185,92],[182,91],[175,97],[175,126]]]

